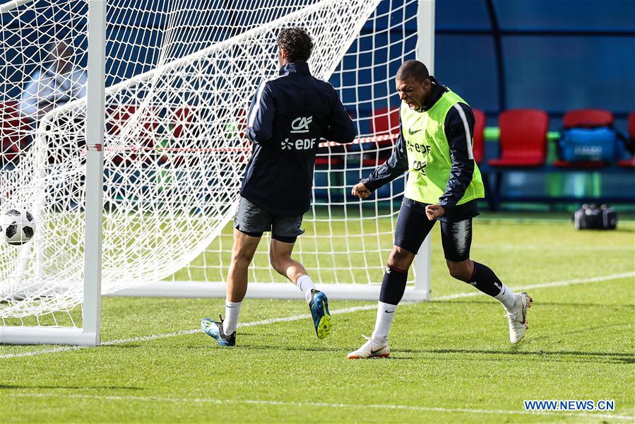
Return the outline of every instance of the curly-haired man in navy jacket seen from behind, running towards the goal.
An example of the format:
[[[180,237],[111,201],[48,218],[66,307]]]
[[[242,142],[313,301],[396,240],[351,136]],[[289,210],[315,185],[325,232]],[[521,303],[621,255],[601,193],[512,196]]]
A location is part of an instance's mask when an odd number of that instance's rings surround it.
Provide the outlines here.
[[[331,331],[326,295],[315,289],[291,252],[304,232],[300,226],[311,203],[320,139],[350,143],[355,127],[333,86],[311,76],[307,60],[313,42],[306,31],[285,28],[277,41],[280,74],[261,83],[249,107],[247,136],[254,144],[234,220],[225,320],[201,321],[221,346],[235,345],[247,270],[265,231],[271,231],[271,266],[304,293],[317,336],[325,338]]]

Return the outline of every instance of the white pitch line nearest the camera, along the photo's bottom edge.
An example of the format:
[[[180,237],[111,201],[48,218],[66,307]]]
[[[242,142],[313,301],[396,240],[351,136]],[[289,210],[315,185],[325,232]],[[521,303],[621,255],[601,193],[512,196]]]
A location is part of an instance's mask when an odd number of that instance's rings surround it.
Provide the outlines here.
[[[511,411],[506,409],[471,409],[471,408],[437,408],[433,406],[409,406],[391,404],[329,404],[326,402],[285,402],[285,401],[261,401],[256,399],[214,399],[214,398],[179,398],[179,397],[155,397],[155,396],[98,396],[88,394],[64,394],[64,393],[16,393],[5,394],[12,397],[55,397],[62,399],[97,399],[103,401],[136,401],[136,402],[166,402],[187,404],[247,404],[268,406],[294,406],[294,407],[319,407],[324,408],[372,408],[372,409],[399,409],[406,411],[429,412],[453,412],[453,413],[482,413],[482,414],[506,414],[506,415],[541,415],[541,416],[575,416],[585,418],[608,418],[614,420],[633,420],[633,416],[619,416],[607,413],[571,413],[565,411]]]

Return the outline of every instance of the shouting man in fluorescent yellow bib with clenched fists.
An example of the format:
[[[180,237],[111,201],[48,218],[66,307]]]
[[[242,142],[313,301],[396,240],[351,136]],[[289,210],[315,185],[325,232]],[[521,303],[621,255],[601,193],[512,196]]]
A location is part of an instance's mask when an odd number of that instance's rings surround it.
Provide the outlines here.
[[[386,163],[356,184],[352,194],[366,199],[405,171],[408,182],[381,283],[375,329],[348,358],[390,355],[388,331],[403,298],[408,269],[437,220],[441,221],[441,242],[450,275],[499,300],[509,320],[509,339],[518,343],[527,329],[530,296],[512,292],[492,269],[470,259],[472,218],[479,214],[476,199],[485,196],[472,154],[472,109],[430,76],[420,61],[409,60],[400,66],[396,88],[402,100],[396,146]]]

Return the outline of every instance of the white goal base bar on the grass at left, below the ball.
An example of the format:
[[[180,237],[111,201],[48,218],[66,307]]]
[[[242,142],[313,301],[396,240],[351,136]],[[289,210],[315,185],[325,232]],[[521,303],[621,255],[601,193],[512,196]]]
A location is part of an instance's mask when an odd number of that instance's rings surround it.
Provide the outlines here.
[[[99,336],[77,328],[0,326],[0,344],[97,346]]]

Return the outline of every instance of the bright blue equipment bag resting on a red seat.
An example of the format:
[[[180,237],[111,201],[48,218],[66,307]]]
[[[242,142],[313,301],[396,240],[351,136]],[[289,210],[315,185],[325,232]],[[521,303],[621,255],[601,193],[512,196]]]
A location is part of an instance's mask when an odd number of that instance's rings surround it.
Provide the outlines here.
[[[559,141],[559,156],[567,162],[612,162],[617,153],[617,141],[615,130],[606,126],[565,129]]]

